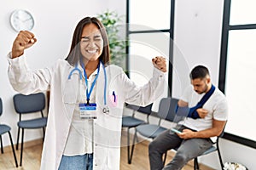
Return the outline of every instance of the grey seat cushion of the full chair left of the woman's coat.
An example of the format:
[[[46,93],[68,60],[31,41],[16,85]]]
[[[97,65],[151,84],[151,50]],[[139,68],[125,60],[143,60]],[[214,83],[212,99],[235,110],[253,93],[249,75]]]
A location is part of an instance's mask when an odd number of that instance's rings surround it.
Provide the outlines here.
[[[18,122],[18,127],[21,128],[42,128],[46,127],[47,118],[38,118],[38,119],[32,119],[32,120],[26,120],[26,121],[20,121]]]

